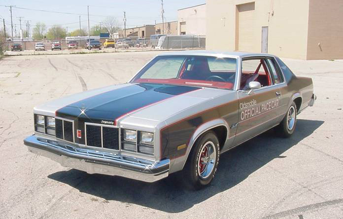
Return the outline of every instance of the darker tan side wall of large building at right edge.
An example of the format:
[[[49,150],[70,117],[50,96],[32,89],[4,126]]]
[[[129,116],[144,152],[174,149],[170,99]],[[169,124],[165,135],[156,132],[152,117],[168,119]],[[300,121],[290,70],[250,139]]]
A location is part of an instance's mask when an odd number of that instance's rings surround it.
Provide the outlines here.
[[[310,0],[308,35],[307,59],[343,59],[343,0]]]

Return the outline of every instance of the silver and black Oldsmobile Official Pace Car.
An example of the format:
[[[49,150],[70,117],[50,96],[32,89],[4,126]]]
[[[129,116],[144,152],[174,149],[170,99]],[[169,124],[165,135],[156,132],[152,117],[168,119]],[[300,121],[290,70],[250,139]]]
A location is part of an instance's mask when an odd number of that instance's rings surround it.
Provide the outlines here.
[[[178,172],[199,189],[214,178],[221,153],[273,127],[291,136],[315,99],[312,79],[274,55],[167,53],[128,83],[35,107],[24,144],[91,174],[155,182]]]

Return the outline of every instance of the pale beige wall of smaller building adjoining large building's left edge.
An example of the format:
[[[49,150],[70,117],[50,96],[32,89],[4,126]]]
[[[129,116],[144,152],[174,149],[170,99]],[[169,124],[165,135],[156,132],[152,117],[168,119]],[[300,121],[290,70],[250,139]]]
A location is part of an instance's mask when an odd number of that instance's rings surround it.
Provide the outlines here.
[[[186,34],[206,35],[206,4],[177,10],[178,35],[180,22],[186,22]]]

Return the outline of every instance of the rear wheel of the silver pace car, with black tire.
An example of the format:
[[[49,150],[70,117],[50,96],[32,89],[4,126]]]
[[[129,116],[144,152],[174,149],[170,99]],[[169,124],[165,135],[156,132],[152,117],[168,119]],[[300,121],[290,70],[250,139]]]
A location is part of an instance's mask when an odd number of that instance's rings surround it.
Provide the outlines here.
[[[282,119],[280,124],[275,127],[275,131],[279,136],[283,138],[289,138],[294,133],[296,124],[297,106],[294,102],[292,102],[291,106],[288,108],[286,112],[285,117]]]

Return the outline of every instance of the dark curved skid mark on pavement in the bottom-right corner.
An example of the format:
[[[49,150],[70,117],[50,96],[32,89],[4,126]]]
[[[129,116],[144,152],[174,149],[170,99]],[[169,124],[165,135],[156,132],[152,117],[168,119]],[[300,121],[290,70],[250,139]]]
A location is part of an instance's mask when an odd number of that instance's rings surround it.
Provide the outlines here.
[[[311,211],[314,209],[324,208],[324,207],[328,207],[328,206],[332,206],[332,205],[338,205],[341,203],[343,203],[343,198],[330,200],[330,201],[326,201],[326,202],[319,202],[319,203],[315,203],[315,204],[311,204],[311,205],[302,206],[299,208],[294,208],[291,210],[279,212],[279,213],[276,213],[274,215],[270,215],[270,216],[260,218],[260,219],[279,219],[279,218],[284,218],[287,216],[296,215],[299,213]]]

